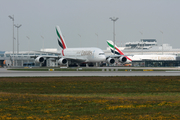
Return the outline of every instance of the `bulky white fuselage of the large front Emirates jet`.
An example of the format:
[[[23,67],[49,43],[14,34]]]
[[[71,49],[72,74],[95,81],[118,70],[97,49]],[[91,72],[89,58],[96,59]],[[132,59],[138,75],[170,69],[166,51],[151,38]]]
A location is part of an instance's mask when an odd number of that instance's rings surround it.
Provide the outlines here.
[[[62,50],[62,57],[85,60],[84,62],[102,62],[106,60],[104,52],[99,48],[66,48]]]

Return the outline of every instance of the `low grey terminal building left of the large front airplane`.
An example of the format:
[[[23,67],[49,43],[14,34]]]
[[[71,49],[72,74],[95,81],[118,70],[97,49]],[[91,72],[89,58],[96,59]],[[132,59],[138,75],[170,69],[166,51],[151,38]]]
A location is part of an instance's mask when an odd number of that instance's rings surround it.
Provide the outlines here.
[[[39,66],[47,66],[47,67],[57,67],[58,60],[54,60],[52,58],[46,59],[44,63],[36,63],[36,56],[58,56],[57,54],[52,53],[40,53],[34,51],[20,51],[18,54],[11,51],[0,51],[0,67],[39,67]]]

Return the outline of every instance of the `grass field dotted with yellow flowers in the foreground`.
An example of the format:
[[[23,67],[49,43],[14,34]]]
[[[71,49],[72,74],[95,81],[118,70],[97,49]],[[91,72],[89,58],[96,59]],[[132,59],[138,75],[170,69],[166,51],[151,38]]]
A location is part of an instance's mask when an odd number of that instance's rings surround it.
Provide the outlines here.
[[[180,119],[180,77],[0,78],[0,119]]]

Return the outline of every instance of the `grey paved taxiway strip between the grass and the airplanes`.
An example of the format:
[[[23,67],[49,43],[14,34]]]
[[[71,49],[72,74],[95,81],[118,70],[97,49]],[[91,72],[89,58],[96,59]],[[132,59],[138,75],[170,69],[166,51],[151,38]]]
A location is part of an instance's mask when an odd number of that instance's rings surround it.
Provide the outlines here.
[[[0,68],[0,77],[180,76],[180,71],[14,71]]]

